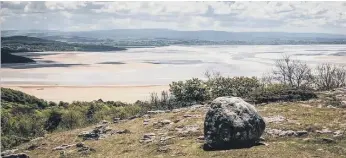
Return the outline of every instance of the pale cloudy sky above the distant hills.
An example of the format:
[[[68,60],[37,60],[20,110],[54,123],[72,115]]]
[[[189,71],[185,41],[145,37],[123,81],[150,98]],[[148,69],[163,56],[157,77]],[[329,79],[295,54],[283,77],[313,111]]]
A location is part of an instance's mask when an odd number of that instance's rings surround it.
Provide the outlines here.
[[[346,2],[1,2],[1,27],[346,34]]]

